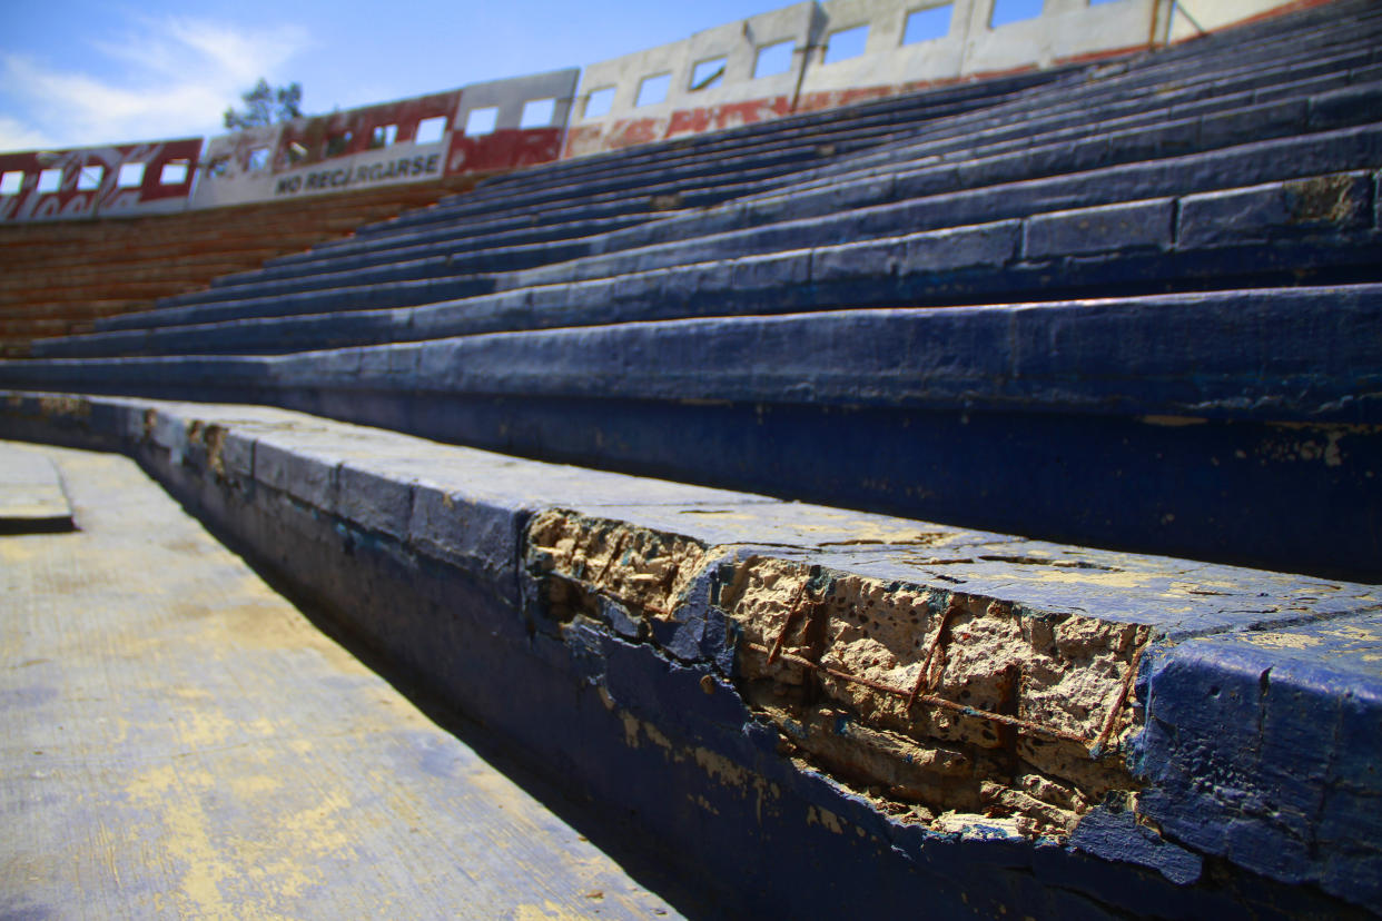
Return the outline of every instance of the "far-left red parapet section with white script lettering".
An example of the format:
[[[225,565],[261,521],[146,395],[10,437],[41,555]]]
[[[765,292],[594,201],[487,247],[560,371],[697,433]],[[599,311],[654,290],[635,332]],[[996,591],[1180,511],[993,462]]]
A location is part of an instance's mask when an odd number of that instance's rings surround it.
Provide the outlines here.
[[[0,153],[0,173],[22,173],[14,195],[0,195],[0,221],[83,218],[97,214],[152,214],[180,210],[192,191],[202,138],[151,141],[75,151]],[[120,188],[120,167],[144,164],[138,185]],[[163,182],[163,168],[173,167]],[[46,170],[61,173],[57,191],[39,192]],[[94,188],[82,188],[87,184]]]

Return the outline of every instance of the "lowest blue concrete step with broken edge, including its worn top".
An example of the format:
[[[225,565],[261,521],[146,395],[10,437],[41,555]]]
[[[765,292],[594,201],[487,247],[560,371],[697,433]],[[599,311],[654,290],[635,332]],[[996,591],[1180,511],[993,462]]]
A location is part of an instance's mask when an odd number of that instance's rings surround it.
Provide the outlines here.
[[[11,435],[141,458],[524,758],[680,842],[669,859],[694,853],[688,873],[737,906],[820,910],[865,885],[883,907],[925,892],[990,914],[1368,904],[1378,862],[1352,844],[1371,833],[1346,809],[1287,831],[1237,822],[1226,780],[1204,795],[1237,844],[1190,834],[1201,813],[1180,765],[1194,746],[1247,762],[1237,741],[1164,726],[1218,674],[1216,660],[1176,666],[1197,661],[1197,643],[1367,624],[1375,585],[587,476],[287,411],[3,405]],[[257,460],[236,472],[224,463],[236,440],[310,460],[337,489],[260,476]],[[1359,688],[1382,671],[1357,667]],[[1350,695],[1329,685],[1320,706],[1353,707],[1359,725],[1382,714]],[[1306,725],[1317,711],[1288,700],[1274,712]],[[1360,739],[1350,757],[1378,761],[1376,736]],[[1382,790],[1350,783],[1350,795]],[[1289,866],[1253,857],[1306,840],[1328,844],[1289,852]],[[1206,859],[1226,869],[1198,873]],[[820,860],[829,874],[803,880]],[[844,869],[862,866],[867,882]],[[1323,891],[1291,888],[1303,881]]]

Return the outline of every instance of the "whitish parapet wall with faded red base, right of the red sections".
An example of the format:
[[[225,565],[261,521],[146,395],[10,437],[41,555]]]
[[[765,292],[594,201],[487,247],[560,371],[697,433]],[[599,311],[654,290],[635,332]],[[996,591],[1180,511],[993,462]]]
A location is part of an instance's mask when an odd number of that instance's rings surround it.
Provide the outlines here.
[[[1306,0],[1309,3],[1310,0]],[[1284,0],[825,0],[586,68],[565,156],[1194,37]],[[1200,28],[1194,23],[1198,22]]]

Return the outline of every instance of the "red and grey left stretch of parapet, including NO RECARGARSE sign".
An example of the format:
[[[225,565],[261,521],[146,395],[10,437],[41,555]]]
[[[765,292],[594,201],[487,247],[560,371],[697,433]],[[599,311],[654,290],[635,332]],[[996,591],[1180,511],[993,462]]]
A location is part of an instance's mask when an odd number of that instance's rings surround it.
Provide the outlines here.
[[[561,153],[578,75],[475,83],[206,142],[0,155],[0,222],[162,214],[545,163]]]

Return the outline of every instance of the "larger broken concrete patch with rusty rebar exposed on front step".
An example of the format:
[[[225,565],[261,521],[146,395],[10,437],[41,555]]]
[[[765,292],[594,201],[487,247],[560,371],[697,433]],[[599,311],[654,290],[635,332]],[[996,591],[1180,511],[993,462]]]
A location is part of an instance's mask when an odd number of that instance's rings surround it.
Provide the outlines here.
[[[766,559],[720,603],[750,706],[893,808],[1061,837],[1136,786],[1108,747],[1137,725],[1143,627]]]

